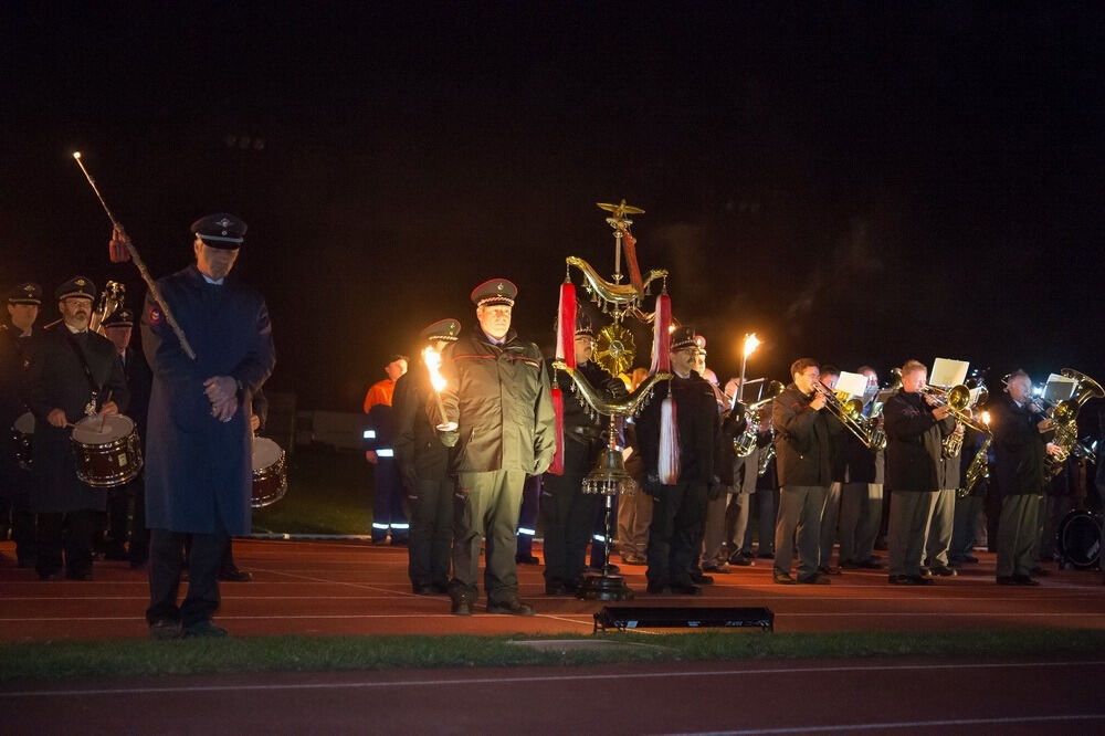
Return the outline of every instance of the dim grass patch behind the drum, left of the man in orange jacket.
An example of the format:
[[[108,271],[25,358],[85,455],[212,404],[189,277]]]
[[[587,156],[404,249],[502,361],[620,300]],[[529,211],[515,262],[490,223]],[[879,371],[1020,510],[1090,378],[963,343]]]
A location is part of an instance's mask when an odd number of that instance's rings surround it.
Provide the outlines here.
[[[254,532],[368,534],[372,472],[361,453],[301,448],[292,456],[287,493],[253,513]]]

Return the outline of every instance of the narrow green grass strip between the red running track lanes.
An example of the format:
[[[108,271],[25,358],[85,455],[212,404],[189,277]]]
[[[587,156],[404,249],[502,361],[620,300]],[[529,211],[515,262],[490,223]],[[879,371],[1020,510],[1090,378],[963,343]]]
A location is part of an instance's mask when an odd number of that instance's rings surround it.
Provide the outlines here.
[[[696,631],[677,634],[608,633],[599,639],[640,648],[538,651],[509,641],[565,637],[388,635],[244,637],[156,642],[0,644],[0,682],[72,677],[135,677],[227,672],[308,672],[611,662],[872,656],[1013,658],[1105,651],[1105,631],[1002,629],[994,631],[776,633]]]

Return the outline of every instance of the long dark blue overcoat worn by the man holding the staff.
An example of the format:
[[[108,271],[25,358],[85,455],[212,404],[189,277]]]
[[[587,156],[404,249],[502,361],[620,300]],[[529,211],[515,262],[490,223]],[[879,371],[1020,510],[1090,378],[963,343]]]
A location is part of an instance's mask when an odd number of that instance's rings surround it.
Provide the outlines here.
[[[141,335],[154,371],[146,442],[146,525],[211,534],[217,521],[231,535],[251,530],[250,413],[252,395],[276,361],[269,308],[261,294],[232,275],[209,284],[196,265],[158,282],[196,351],[190,359],[150,295]],[[242,388],[229,422],[211,416],[203,381],[230,376]]]

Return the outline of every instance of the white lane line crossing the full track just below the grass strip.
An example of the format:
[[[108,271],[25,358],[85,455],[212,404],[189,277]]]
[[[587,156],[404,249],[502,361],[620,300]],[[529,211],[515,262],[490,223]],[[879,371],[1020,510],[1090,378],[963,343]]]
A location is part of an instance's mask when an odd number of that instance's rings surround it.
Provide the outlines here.
[[[1066,661],[1066,662],[987,662],[974,664],[849,664],[828,666],[801,666],[801,667],[779,667],[771,670],[767,667],[744,669],[744,670],[694,670],[691,672],[619,672],[609,674],[575,674],[575,675],[512,675],[509,677],[471,677],[467,680],[399,680],[396,682],[302,682],[270,685],[179,685],[175,687],[101,687],[95,690],[27,690],[15,692],[0,692],[0,698],[14,697],[53,697],[56,695],[113,695],[130,694],[141,695],[150,693],[225,693],[232,691],[295,691],[295,690],[358,690],[375,687],[440,687],[441,685],[498,685],[498,684],[532,684],[551,682],[593,682],[607,680],[655,680],[657,677],[724,677],[724,676],[756,676],[780,675],[780,674],[809,674],[809,673],[840,673],[840,672],[923,672],[940,670],[1010,670],[1041,669],[1041,667],[1087,667],[1105,665],[1105,660],[1093,661]],[[255,674],[255,673],[254,673]]]

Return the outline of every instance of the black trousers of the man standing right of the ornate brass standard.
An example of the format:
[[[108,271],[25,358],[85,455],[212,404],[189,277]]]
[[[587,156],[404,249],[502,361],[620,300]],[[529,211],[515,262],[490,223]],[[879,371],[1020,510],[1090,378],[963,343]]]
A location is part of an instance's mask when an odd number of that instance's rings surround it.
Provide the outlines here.
[[[706,482],[661,486],[649,527],[649,582],[692,585],[706,521]]]

